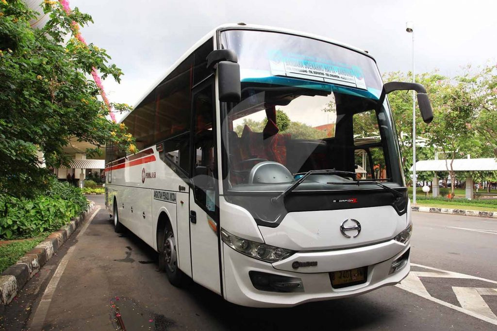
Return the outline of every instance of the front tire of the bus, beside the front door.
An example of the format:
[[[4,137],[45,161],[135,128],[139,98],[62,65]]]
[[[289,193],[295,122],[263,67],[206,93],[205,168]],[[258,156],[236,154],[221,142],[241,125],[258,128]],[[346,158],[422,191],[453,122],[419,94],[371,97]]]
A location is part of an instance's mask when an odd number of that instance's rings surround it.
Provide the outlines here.
[[[186,277],[177,265],[176,240],[169,222],[166,223],[162,243],[163,247],[159,252],[159,269],[166,271],[167,279],[172,285],[181,287]]]

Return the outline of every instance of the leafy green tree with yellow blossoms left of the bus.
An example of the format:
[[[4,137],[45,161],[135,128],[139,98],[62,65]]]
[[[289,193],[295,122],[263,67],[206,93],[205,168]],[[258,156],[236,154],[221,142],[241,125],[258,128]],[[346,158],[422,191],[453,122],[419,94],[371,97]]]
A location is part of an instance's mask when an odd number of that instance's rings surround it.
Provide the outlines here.
[[[40,167],[40,155],[47,166],[67,165],[63,147],[71,138],[96,145],[93,153],[108,140],[136,150],[126,127],[106,118],[109,110],[89,79],[93,68],[118,82],[123,72],[95,45],[76,38],[64,43],[91,16],[77,8],[68,14],[56,1],[45,1],[44,12],[49,21],[33,29],[36,13],[23,1],[0,1],[0,193],[18,197],[47,189],[50,172]]]

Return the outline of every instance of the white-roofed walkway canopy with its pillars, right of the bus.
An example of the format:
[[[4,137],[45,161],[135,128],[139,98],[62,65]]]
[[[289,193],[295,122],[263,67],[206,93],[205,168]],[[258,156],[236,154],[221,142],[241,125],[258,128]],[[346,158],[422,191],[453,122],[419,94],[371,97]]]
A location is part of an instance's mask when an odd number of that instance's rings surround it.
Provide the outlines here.
[[[448,171],[451,169],[451,160],[424,160],[416,162],[416,171]],[[413,171],[413,167],[410,169]],[[481,159],[455,159],[452,163],[452,170],[454,171],[496,171],[497,161],[495,158],[481,158]],[[437,197],[439,193],[438,178],[433,178],[432,182],[433,197]],[[473,177],[466,179],[466,198],[473,199]]]

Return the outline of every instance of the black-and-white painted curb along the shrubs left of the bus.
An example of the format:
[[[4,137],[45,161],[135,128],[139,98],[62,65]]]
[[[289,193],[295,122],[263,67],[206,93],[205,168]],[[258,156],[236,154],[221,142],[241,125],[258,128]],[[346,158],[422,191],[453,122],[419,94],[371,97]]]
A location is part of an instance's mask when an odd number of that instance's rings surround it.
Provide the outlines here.
[[[71,221],[60,230],[51,233],[47,239],[26,253],[15,265],[6,268],[0,275],[0,313],[8,305],[22,287],[31,279],[40,268],[47,263],[66,240],[74,233],[86,216],[95,208],[91,201],[88,209],[80,216],[71,218]]]

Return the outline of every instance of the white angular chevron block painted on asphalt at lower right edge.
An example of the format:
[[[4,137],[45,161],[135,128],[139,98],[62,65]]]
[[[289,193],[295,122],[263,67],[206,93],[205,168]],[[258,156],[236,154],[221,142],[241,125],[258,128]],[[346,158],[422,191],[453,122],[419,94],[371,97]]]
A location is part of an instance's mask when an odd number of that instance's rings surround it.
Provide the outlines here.
[[[482,298],[482,294],[497,295],[495,288],[452,286],[452,290],[456,294],[457,301],[459,301],[461,307],[497,321],[497,316]]]

